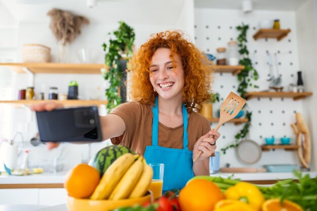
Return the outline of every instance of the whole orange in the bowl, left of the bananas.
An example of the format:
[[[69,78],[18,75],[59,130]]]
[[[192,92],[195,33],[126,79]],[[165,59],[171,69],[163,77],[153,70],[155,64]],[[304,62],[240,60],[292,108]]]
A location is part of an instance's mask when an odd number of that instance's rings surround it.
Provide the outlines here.
[[[81,163],[67,172],[64,179],[64,188],[69,196],[87,198],[94,192],[99,180],[100,174],[96,168]]]

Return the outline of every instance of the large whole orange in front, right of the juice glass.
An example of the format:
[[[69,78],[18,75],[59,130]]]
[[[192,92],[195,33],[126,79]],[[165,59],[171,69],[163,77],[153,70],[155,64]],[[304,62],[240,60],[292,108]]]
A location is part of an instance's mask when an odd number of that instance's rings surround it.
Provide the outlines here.
[[[178,197],[182,211],[210,211],[222,199],[224,195],[220,188],[204,179],[189,181]]]

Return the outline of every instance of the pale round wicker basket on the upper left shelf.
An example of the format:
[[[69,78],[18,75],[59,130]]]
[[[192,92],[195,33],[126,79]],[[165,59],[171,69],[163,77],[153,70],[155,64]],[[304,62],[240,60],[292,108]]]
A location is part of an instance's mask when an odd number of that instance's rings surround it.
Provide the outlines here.
[[[24,44],[22,48],[23,62],[45,63],[51,61],[51,49],[40,44]]]

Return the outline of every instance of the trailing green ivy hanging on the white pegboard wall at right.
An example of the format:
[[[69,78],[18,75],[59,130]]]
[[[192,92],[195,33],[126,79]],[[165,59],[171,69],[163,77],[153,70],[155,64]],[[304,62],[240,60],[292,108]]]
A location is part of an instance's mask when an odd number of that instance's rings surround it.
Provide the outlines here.
[[[259,78],[259,74],[252,66],[252,61],[249,58],[249,50],[247,47],[247,32],[249,29],[249,25],[245,25],[242,23],[240,26],[235,27],[238,31],[240,31],[239,36],[237,36],[239,53],[242,59],[239,61],[240,65],[244,65],[245,69],[243,69],[239,74],[237,74],[237,79],[239,81],[239,86],[237,88],[237,92],[240,94],[242,98],[245,99],[245,94],[247,92],[248,87],[258,88],[257,85],[253,83],[253,81]],[[249,133],[250,125],[251,125],[251,117],[252,112],[247,111],[246,117],[248,118],[248,122],[245,123],[243,129],[235,135],[235,142],[231,145],[228,145],[221,149],[221,151],[225,154],[226,150],[229,148],[235,148],[239,145],[240,141]]]

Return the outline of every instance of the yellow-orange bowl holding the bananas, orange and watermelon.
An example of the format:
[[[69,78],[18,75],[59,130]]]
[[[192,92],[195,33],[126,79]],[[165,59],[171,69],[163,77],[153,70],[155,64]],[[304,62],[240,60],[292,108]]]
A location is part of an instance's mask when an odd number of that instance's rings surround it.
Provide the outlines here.
[[[150,201],[150,193],[147,193],[145,196],[139,198],[128,198],[121,200],[91,200],[67,196],[66,205],[69,211],[109,211],[122,206],[133,206]]]

